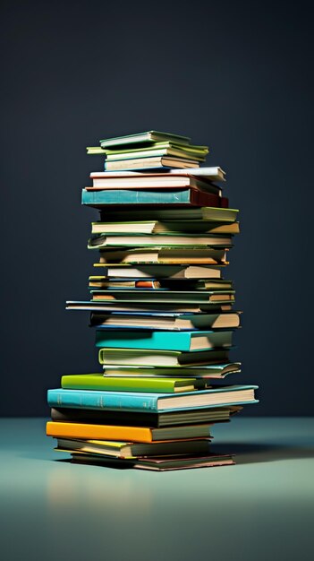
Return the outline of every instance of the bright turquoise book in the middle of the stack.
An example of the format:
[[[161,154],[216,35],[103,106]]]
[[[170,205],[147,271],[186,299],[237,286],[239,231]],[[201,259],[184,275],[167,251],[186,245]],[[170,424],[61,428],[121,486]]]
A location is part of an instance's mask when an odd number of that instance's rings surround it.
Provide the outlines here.
[[[208,350],[230,348],[233,331],[154,332],[98,329],[96,346],[111,349]]]

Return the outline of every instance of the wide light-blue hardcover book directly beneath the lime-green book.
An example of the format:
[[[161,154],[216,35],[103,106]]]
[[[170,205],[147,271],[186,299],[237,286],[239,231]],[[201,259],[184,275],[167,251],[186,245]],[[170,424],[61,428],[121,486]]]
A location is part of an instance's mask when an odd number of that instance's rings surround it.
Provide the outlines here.
[[[228,385],[199,392],[140,393],[100,392],[97,390],[48,390],[50,407],[72,407],[99,410],[186,410],[202,407],[223,407],[258,402],[254,397],[256,385]]]

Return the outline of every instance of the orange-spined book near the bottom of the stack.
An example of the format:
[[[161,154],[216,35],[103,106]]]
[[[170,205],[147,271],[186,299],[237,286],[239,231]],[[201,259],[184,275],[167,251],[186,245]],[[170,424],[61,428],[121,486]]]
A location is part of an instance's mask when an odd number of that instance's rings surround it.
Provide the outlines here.
[[[179,425],[177,427],[129,427],[123,425],[98,425],[94,423],[47,422],[47,436],[55,438],[79,438],[91,440],[113,440],[153,443],[163,440],[189,440],[210,438],[210,424]],[[88,444],[81,442],[81,444]],[[124,443],[125,444],[125,443]],[[173,442],[174,444],[174,442]],[[182,443],[183,444],[183,443]],[[155,447],[154,447],[155,448]],[[92,452],[90,450],[90,452]],[[171,452],[171,451],[170,451]],[[153,453],[157,453],[153,452]],[[174,453],[174,452],[171,452]],[[132,454],[133,455],[133,454]]]

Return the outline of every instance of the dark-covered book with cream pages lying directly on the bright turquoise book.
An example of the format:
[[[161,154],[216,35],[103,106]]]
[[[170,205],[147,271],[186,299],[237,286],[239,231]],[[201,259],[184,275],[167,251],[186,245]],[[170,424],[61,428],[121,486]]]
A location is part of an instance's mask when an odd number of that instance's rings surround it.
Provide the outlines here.
[[[198,329],[235,329],[239,327],[239,312],[220,312],[218,314],[125,314],[111,312],[90,315],[90,325],[102,328],[125,327],[154,330],[198,330]]]

